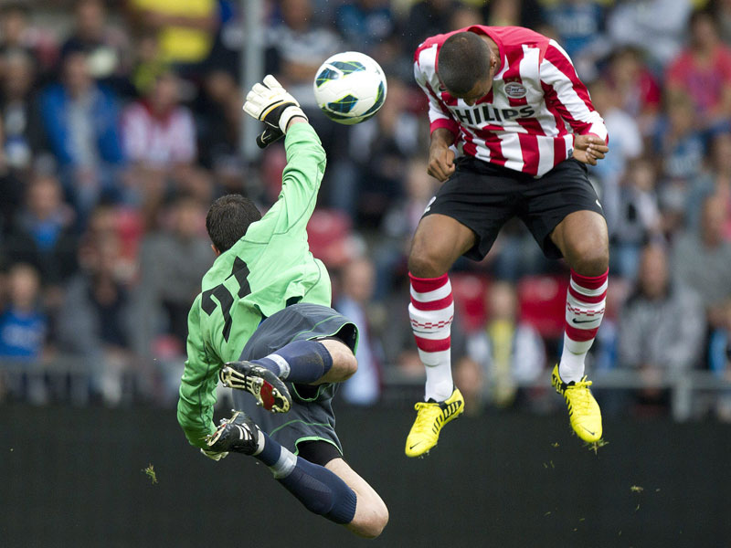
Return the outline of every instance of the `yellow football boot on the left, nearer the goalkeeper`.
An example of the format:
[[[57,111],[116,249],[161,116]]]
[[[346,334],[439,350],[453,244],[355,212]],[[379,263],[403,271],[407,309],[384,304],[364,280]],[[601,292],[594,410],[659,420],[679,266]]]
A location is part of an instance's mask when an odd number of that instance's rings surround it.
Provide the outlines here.
[[[419,457],[437,445],[441,427],[461,415],[464,411],[464,398],[455,388],[443,402],[418,402],[417,419],[406,438],[406,456]]]

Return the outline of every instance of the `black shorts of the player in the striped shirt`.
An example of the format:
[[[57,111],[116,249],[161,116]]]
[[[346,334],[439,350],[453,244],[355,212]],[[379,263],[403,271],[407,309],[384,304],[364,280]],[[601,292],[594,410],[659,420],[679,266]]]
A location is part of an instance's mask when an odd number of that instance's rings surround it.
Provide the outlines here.
[[[450,216],[471,228],[477,242],[465,257],[482,260],[503,225],[519,217],[547,258],[561,258],[551,232],[575,211],[595,211],[603,216],[599,197],[588,182],[584,163],[569,159],[535,178],[471,156],[457,160],[450,180],[441,185],[424,216]]]

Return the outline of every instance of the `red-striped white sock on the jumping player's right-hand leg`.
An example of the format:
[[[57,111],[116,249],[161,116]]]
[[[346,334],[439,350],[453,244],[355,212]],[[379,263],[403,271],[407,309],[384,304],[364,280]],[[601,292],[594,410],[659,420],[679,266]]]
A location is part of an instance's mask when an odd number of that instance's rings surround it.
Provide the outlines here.
[[[604,318],[609,269],[601,276],[581,276],[571,270],[566,299],[566,333],[558,374],[565,383],[580,381],[584,360],[591,348],[599,324]]]

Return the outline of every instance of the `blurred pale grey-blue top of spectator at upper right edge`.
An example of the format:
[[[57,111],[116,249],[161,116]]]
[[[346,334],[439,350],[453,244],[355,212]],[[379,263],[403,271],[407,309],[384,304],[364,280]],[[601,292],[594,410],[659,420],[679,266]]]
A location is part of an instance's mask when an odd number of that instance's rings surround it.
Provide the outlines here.
[[[655,68],[667,65],[680,51],[692,0],[620,0],[607,20],[612,42],[647,52]]]

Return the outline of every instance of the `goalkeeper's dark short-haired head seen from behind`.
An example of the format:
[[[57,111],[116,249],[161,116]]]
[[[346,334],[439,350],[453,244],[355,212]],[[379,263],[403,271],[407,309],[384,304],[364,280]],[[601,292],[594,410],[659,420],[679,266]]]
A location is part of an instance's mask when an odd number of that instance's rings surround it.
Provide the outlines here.
[[[206,216],[206,230],[211,242],[223,253],[232,248],[246,234],[251,223],[260,220],[257,206],[242,195],[225,195],[218,198]]]

